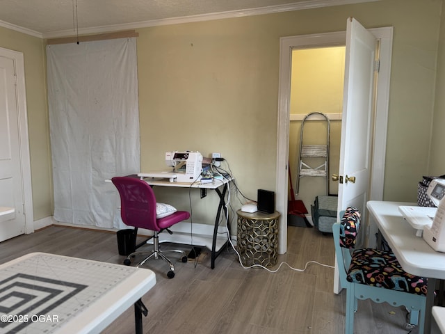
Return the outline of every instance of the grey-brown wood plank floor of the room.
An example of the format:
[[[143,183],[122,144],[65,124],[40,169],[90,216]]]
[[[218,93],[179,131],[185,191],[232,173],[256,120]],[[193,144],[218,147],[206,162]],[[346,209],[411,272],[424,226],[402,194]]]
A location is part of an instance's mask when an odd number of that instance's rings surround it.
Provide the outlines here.
[[[279,255],[277,264],[286,261],[296,269],[304,268],[310,260],[334,264],[331,236],[314,228],[289,227],[288,238],[288,252]],[[178,245],[165,245],[164,249],[170,246],[178,248]],[[190,246],[179,248],[188,251]],[[118,264],[124,260],[118,255],[113,233],[51,226],[0,243],[0,262],[31,252]],[[225,250],[216,259],[213,270],[209,255],[202,263],[175,262],[176,276],[172,279],[166,278],[165,262],[149,261],[145,265],[156,273],[157,283],[143,297],[149,309],[143,319],[144,333],[344,333],[346,294],[332,292],[332,268],[309,264],[305,272],[300,272],[284,265],[277,273],[243,269],[232,249]],[[133,317],[133,308],[130,308],[104,333],[134,333]],[[355,333],[410,333],[404,328],[405,317],[402,308],[359,301]],[[417,333],[416,328],[411,333]]]

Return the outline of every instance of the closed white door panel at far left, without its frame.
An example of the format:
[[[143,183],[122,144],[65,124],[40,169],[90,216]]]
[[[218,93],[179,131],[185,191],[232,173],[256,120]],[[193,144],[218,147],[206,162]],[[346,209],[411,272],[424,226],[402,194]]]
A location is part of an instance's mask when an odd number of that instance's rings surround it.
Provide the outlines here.
[[[24,185],[19,141],[17,81],[13,58],[0,56],[0,241],[25,232]]]

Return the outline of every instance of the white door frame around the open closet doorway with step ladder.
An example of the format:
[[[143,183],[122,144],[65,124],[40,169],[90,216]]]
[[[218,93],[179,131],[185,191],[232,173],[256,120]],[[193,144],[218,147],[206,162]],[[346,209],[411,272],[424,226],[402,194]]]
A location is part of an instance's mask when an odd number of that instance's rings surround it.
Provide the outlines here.
[[[389,107],[389,82],[391,79],[391,54],[393,27],[368,29],[380,40],[380,70],[376,100],[375,128],[373,135],[373,158],[371,167],[370,198],[382,200],[385,180],[385,156],[387,141],[387,120]],[[288,160],[289,160],[289,105],[291,100],[291,63],[293,49],[334,47],[346,44],[346,31],[296,35],[280,38],[280,81],[278,86],[277,120],[277,175],[275,207],[282,212],[278,229],[278,253],[287,250],[287,202],[288,202]],[[378,125],[378,126],[377,126]],[[366,229],[366,239],[376,228]]]

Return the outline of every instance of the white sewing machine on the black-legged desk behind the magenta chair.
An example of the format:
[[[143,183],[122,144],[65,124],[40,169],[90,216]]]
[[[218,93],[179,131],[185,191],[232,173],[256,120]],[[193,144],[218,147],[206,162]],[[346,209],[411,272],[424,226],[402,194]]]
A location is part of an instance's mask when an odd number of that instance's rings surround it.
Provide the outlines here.
[[[165,152],[165,164],[172,166],[177,182],[192,183],[201,179],[202,154],[200,152]],[[185,170],[180,170],[185,165]]]

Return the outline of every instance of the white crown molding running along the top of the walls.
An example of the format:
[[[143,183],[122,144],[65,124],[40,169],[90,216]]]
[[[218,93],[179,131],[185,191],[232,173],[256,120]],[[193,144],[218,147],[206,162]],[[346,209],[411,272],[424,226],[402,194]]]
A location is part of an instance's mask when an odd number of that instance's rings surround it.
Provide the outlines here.
[[[8,22],[0,21],[0,26],[4,26],[8,29],[19,31],[21,33],[26,33],[28,35],[33,35],[39,38],[60,38],[74,36],[77,33],[81,35],[91,34],[91,33],[108,33],[113,31],[125,31],[131,29],[147,28],[151,26],[166,26],[171,24],[184,24],[191,22],[203,22],[211,21],[214,19],[230,19],[235,17],[247,17],[254,15],[266,15],[273,13],[290,12],[294,10],[305,10],[312,8],[321,7],[332,7],[332,6],[342,6],[349,5],[353,3],[365,3],[374,2],[381,0],[306,0],[296,3],[289,3],[286,5],[276,5],[276,6],[266,6],[260,8],[243,9],[243,10],[229,10],[220,13],[209,13],[202,15],[190,15],[184,17],[172,17],[168,19],[153,19],[143,22],[133,22],[129,24],[112,24],[107,26],[95,26],[91,28],[79,28],[79,32],[73,29],[64,31],[54,31],[50,33],[39,33],[38,31],[33,31],[30,29],[23,28],[21,26],[16,26],[14,24],[9,24]]]

